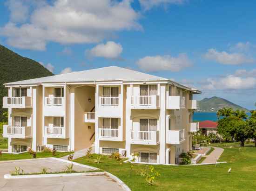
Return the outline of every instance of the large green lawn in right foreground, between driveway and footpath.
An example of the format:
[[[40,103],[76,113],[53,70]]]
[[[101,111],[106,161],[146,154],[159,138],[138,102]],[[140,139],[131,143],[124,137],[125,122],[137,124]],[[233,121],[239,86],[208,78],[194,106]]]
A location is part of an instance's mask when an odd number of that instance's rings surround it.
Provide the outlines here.
[[[225,144],[216,144],[226,146]],[[216,146],[211,145],[211,146]],[[235,146],[233,146],[235,145]],[[136,175],[136,171],[144,165],[135,165],[129,175],[129,164],[102,156],[101,163],[95,164],[94,159],[85,157],[75,159],[75,162],[98,167],[108,171],[124,181],[133,191],[255,191],[256,190],[256,148],[246,146],[239,152],[239,143],[228,144],[220,161],[227,164],[211,166],[163,166],[157,165],[155,169],[161,176],[156,178],[155,185],[148,186],[144,178]],[[231,173],[228,173],[231,167]]]

